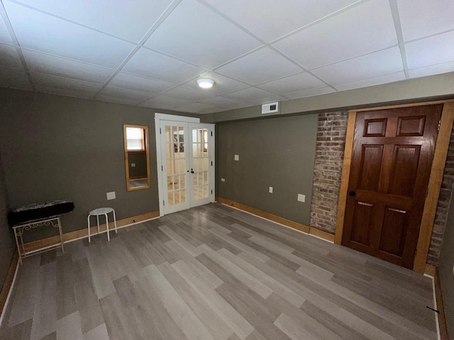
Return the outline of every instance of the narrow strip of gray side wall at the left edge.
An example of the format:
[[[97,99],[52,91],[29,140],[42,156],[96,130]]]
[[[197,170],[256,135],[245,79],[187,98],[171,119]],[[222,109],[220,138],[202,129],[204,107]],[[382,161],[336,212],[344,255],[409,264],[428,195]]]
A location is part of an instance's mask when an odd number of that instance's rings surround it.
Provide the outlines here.
[[[16,244],[13,233],[6,221],[8,212],[8,195],[6,193],[3,166],[0,157],[0,290],[4,285],[11,259],[13,259]]]

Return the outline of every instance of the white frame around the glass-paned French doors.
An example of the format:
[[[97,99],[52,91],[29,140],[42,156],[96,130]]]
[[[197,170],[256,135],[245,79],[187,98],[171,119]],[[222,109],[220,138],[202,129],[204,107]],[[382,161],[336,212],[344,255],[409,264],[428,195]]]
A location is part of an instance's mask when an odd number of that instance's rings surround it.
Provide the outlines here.
[[[175,122],[182,122],[182,123],[200,123],[200,118],[194,117],[185,117],[182,115],[167,115],[165,113],[155,113],[155,140],[156,140],[156,169],[157,169],[157,192],[159,196],[159,215],[164,216],[164,188],[162,180],[162,159],[161,159],[161,138],[160,138],[160,125],[161,120],[172,120]],[[214,126],[214,124],[212,124]],[[214,130],[214,128],[213,128]],[[212,146],[213,146],[213,153],[215,150],[214,145],[214,133],[213,136],[210,136]],[[212,161],[214,164],[214,157],[212,157]],[[215,168],[213,166],[213,175],[214,176]],[[214,193],[214,179],[213,183],[213,193]],[[214,197],[214,196],[213,196]],[[214,201],[214,198],[213,198]]]

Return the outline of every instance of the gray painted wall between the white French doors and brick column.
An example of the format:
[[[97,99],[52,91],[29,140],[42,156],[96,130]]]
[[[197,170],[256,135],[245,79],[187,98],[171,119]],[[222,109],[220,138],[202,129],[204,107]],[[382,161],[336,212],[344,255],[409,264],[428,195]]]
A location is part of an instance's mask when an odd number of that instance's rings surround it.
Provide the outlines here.
[[[216,196],[309,225],[317,122],[313,114],[216,125]]]

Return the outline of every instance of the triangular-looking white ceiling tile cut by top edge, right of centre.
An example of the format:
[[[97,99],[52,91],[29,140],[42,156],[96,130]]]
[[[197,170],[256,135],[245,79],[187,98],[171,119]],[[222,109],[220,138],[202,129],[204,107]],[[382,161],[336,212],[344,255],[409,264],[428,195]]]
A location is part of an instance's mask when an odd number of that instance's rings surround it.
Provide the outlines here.
[[[336,12],[356,0],[206,0],[263,40],[270,42]]]

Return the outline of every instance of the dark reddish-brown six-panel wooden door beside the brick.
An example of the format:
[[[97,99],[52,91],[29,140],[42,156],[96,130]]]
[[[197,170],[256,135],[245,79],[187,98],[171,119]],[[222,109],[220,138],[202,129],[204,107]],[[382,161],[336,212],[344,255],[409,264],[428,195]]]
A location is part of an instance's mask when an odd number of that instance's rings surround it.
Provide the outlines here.
[[[343,245],[413,267],[442,108],[357,113]]]

